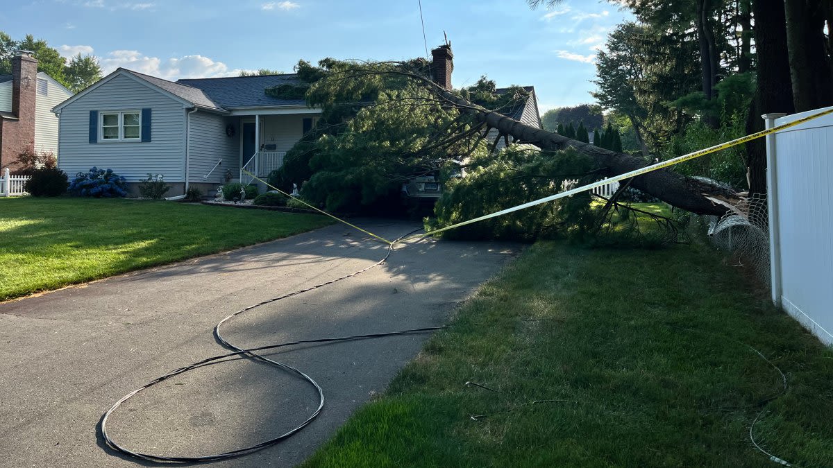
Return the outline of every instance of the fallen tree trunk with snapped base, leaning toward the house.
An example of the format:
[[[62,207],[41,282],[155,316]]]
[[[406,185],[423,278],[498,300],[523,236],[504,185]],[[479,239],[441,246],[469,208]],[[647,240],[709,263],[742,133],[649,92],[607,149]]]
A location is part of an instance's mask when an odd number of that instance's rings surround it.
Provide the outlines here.
[[[530,127],[525,123],[468,102],[466,99],[458,97],[445,89],[437,89],[437,92],[446,101],[454,104],[460,112],[470,114],[478,122],[486,122],[487,126],[496,128],[502,134],[511,135],[522,142],[529,142],[546,150],[574,147],[579,152],[592,157],[601,167],[605,167],[605,175],[607,176],[624,174],[646,166],[645,160],[641,157],[612,152],[589,143],[562,137],[555,132]],[[631,187],[636,187],[642,192],[657,197],[674,207],[700,215],[722,216],[726,213],[726,207],[711,202],[704,195],[721,197],[730,202],[740,201],[735,192],[724,187],[699,178],[685,177],[664,169],[635,177],[631,182]]]

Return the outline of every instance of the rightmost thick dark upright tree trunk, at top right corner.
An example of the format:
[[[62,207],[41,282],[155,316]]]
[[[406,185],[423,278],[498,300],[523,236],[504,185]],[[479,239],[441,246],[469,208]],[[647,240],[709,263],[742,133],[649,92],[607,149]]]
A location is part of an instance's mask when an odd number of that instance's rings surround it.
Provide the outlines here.
[[[829,0],[786,0],[787,46],[796,112],[833,105],[833,75],[824,34]]]

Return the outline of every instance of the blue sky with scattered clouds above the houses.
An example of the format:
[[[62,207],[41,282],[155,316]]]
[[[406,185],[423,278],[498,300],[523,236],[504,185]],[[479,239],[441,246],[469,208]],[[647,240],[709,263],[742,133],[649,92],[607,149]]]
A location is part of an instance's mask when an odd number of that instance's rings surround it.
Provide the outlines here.
[[[0,30],[45,39],[65,57],[177,80],[292,72],[299,59],[399,60],[445,42],[452,84],[486,75],[534,86],[541,113],[592,102],[596,52],[629,12],[602,0],[532,10],[525,0],[0,0]]]

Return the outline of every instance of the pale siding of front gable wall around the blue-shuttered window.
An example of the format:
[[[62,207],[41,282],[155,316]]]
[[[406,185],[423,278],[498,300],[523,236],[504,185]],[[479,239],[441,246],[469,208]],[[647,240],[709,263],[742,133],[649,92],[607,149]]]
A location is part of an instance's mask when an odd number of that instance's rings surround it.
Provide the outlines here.
[[[89,142],[90,111],[144,107],[152,109],[150,142]],[[111,168],[127,182],[138,182],[148,173],[184,182],[185,108],[132,78],[116,76],[62,108],[59,147],[58,166],[71,177],[95,166]]]

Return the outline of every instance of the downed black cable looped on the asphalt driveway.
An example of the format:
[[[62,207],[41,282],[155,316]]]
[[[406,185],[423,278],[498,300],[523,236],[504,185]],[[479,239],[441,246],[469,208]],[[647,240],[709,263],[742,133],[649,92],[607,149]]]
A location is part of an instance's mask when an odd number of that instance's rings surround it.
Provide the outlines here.
[[[312,377],[307,376],[307,374],[298,370],[296,367],[289,366],[289,365],[284,364],[282,362],[273,361],[272,359],[269,359],[266,356],[261,356],[261,355],[257,354],[256,351],[267,351],[267,350],[272,350],[272,349],[276,349],[276,348],[280,348],[280,347],[284,347],[284,346],[300,345],[300,344],[303,344],[303,343],[327,343],[327,342],[333,342],[333,341],[367,340],[367,339],[371,339],[371,338],[380,338],[380,337],[383,337],[383,336],[409,335],[409,334],[414,334],[414,333],[424,333],[426,331],[441,330],[441,329],[446,328],[446,327],[445,326],[427,326],[427,327],[423,327],[423,328],[412,328],[412,329],[408,329],[408,330],[389,331],[389,332],[384,332],[384,333],[368,333],[367,335],[339,336],[339,337],[332,337],[332,338],[317,338],[317,339],[312,339],[312,340],[290,341],[290,342],[286,342],[286,343],[280,343],[280,344],[277,344],[277,345],[259,346],[259,347],[256,347],[256,348],[243,349],[239,346],[233,345],[231,342],[227,341],[225,338],[222,337],[222,334],[220,333],[220,328],[222,327],[222,324],[231,320],[233,317],[242,314],[245,311],[251,311],[252,309],[254,309],[256,307],[263,306],[263,305],[269,304],[271,302],[281,301],[282,299],[286,299],[287,297],[297,296],[299,294],[303,294],[304,292],[312,291],[314,289],[320,288],[322,286],[330,285],[330,284],[335,283],[337,281],[346,280],[347,278],[350,278],[352,276],[357,276],[359,274],[362,274],[365,271],[368,271],[368,270],[371,270],[372,268],[380,266],[380,265],[382,265],[382,263],[387,261],[387,259],[391,256],[391,253],[393,252],[393,246],[395,246],[397,244],[397,242],[402,241],[402,239],[404,239],[405,237],[410,236],[414,232],[419,232],[419,231],[421,231],[421,229],[415,229],[412,232],[408,232],[407,234],[405,234],[403,236],[397,237],[397,239],[395,241],[392,241],[387,246],[387,253],[382,258],[382,260],[377,261],[373,265],[367,266],[366,268],[363,268],[362,270],[353,271],[352,273],[349,273],[349,274],[344,275],[344,276],[340,276],[340,277],[338,277],[334,280],[325,281],[325,282],[319,283],[315,286],[309,286],[309,287],[304,288],[304,289],[299,290],[299,291],[292,291],[292,292],[289,292],[289,293],[284,294],[282,296],[272,297],[271,299],[267,299],[266,301],[261,301],[261,302],[258,302],[257,304],[252,304],[252,306],[244,307],[244,308],[240,309],[239,311],[236,311],[236,312],[226,316],[225,318],[223,318],[222,321],[217,323],[217,326],[214,326],[214,336],[217,338],[217,341],[219,341],[223,346],[226,346],[227,348],[229,348],[233,351],[230,352],[230,353],[227,353],[227,354],[208,357],[207,359],[203,359],[202,361],[197,361],[197,362],[194,362],[193,364],[190,364],[188,366],[180,367],[178,369],[170,371],[167,374],[165,374],[164,376],[158,377],[157,379],[154,379],[154,380],[148,382],[147,384],[145,384],[144,386],[141,386],[141,387],[137,388],[136,390],[131,391],[127,395],[123,396],[122,399],[119,400],[119,401],[116,401],[116,403],[113,404],[113,406],[111,406],[110,409],[107,410],[107,412],[104,413],[104,416],[102,417],[102,421],[100,422],[100,428],[101,428],[101,431],[102,431],[102,438],[104,439],[104,442],[107,444],[107,446],[109,446],[110,448],[112,448],[115,451],[119,451],[119,452],[121,452],[121,453],[123,453],[127,456],[133,456],[133,457],[141,458],[141,459],[147,460],[147,461],[156,461],[156,462],[161,462],[161,463],[194,463],[194,462],[199,462],[199,461],[217,461],[217,460],[222,460],[222,459],[226,459],[226,458],[232,458],[234,456],[246,455],[246,454],[252,453],[254,451],[259,451],[261,449],[264,449],[268,446],[272,446],[272,445],[276,444],[279,441],[287,439],[289,436],[292,436],[293,434],[297,433],[297,431],[301,431],[310,422],[312,422],[312,420],[314,420],[319,414],[321,414],[321,411],[324,408],[324,391],[322,390],[321,386],[319,386],[318,383],[315,380],[312,379]],[[148,454],[148,453],[132,451],[132,450],[128,449],[127,447],[119,445],[116,441],[113,441],[112,438],[107,433],[107,420],[112,415],[113,411],[116,411],[119,406],[122,406],[122,403],[124,403],[127,400],[130,400],[133,396],[136,396],[141,391],[146,390],[147,388],[150,388],[152,386],[155,386],[155,385],[157,385],[158,383],[160,383],[162,381],[166,381],[167,379],[170,379],[172,376],[178,376],[179,374],[185,373],[187,371],[192,371],[192,370],[197,369],[197,368],[202,367],[202,366],[210,366],[212,364],[217,364],[217,363],[223,362],[223,361],[229,361],[229,360],[232,360],[232,359],[237,358],[237,357],[250,357],[250,358],[256,359],[258,361],[267,362],[269,365],[277,366],[277,367],[279,367],[280,369],[282,369],[284,371],[287,371],[287,372],[290,372],[290,373],[295,374],[297,376],[300,376],[303,380],[307,381],[317,391],[317,393],[318,393],[318,407],[316,408],[315,411],[312,412],[312,414],[309,417],[307,417],[307,419],[305,421],[303,421],[298,426],[294,427],[290,431],[287,431],[287,432],[283,433],[280,436],[269,439],[268,441],[262,441],[261,443],[256,444],[254,446],[248,446],[248,447],[245,447],[245,448],[242,448],[242,449],[227,451],[227,452],[223,452],[223,453],[219,453],[219,454],[215,454],[215,455],[206,455],[206,456],[159,456],[159,455],[153,455],[153,454]]]

